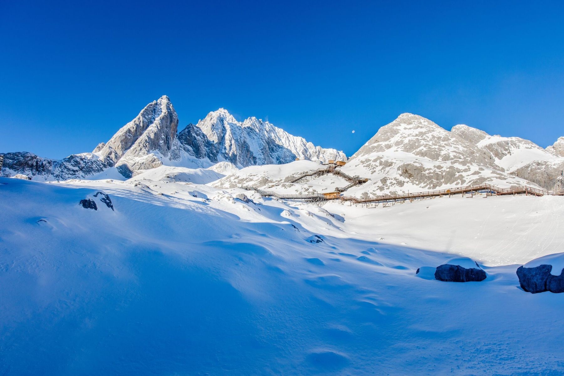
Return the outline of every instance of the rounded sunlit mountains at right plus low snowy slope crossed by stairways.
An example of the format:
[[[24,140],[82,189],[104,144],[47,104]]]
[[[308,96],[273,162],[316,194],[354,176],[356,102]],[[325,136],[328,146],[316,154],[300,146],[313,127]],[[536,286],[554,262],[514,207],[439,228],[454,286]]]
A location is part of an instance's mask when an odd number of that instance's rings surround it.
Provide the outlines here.
[[[404,113],[381,127],[341,171],[369,179],[347,190],[346,195],[354,196],[483,183],[561,189],[563,160],[525,139],[490,136],[466,125],[447,131],[424,117]],[[284,194],[303,194],[331,192],[348,184],[335,175],[288,183],[299,172],[319,167],[316,163],[306,166],[298,162],[289,163],[285,169],[275,165],[247,167],[214,182],[213,186],[252,186]]]

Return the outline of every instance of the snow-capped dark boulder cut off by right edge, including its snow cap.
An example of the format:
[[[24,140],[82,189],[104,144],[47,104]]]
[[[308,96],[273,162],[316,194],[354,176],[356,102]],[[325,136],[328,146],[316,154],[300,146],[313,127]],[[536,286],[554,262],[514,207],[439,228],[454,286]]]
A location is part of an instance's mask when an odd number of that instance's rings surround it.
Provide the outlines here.
[[[543,256],[519,267],[521,288],[529,293],[564,293],[564,253]]]

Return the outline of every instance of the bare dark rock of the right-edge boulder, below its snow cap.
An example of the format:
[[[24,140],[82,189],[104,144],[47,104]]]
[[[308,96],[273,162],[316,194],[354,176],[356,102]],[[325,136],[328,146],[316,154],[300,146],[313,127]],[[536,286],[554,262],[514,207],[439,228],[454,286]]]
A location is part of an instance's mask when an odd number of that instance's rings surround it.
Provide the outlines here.
[[[551,293],[564,293],[564,269],[559,276],[550,274],[552,265],[540,265],[534,268],[525,268],[523,266],[517,269],[517,277],[519,285],[529,293],[543,293],[550,291]]]

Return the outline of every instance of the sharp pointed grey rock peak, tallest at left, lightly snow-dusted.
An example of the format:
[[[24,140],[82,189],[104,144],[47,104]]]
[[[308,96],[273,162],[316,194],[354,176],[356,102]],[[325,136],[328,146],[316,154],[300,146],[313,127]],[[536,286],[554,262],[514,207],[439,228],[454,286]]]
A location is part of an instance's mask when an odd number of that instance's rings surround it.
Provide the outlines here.
[[[122,175],[130,178],[133,171],[153,169],[163,161],[179,161],[177,131],[177,113],[164,95],[149,103],[96,154],[113,162]]]

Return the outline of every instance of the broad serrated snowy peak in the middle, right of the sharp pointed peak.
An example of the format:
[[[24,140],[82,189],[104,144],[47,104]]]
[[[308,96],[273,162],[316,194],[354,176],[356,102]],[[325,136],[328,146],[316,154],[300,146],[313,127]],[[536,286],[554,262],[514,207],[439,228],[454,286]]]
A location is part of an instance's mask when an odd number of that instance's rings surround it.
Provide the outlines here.
[[[342,152],[316,147],[255,117],[238,122],[223,108],[210,112],[196,126],[188,127],[192,131],[197,127],[202,133],[183,137],[182,145],[190,147],[197,156],[203,156],[205,148],[205,156],[210,161],[225,160],[246,167],[288,163],[296,158],[319,162],[346,160]],[[210,143],[214,147],[210,147]]]

